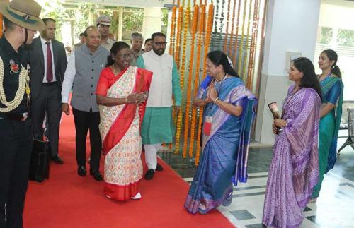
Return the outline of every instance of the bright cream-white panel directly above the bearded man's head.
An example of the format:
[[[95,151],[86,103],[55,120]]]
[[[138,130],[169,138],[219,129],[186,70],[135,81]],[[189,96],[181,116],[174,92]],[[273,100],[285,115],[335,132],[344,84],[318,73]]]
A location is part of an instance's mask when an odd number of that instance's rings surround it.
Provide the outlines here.
[[[154,32],[161,32],[161,20],[160,7],[144,8],[144,19],[142,22],[142,35],[144,39],[151,37]]]

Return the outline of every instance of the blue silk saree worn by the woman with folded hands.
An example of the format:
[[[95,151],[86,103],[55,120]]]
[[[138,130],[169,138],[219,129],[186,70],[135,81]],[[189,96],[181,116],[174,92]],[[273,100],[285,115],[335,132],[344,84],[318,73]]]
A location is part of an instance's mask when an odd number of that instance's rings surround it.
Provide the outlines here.
[[[201,83],[198,98],[207,97],[209,83],[210,78]],[[256,97],[236,77],[215,83],[215,88],[219,91],[220,100],[239,105],[243,111],[240,116],[234,116],[216,104],[205,106],[203,119],[212,116],[211,130],[209,135],[204,131],[202,133],[202,157],[184,205],[193,214],[205,214],[221,204],[229,205],[233,184],[247,180],[247,158]]]

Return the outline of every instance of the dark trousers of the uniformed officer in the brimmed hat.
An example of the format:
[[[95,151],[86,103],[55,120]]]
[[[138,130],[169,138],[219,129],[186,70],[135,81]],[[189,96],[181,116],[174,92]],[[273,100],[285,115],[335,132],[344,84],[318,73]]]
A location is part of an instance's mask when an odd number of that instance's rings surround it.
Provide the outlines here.
[[[22,227],[28,186],[32,121],[0,119],[0,227]]]

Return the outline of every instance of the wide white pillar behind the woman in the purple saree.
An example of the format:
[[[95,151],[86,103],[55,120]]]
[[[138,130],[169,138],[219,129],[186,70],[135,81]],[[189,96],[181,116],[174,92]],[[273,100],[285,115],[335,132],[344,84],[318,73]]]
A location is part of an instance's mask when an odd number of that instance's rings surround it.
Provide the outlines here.
[[[258,97],[257,142],[274,142],[273,116],[267,104],[277,102],[281,108],[287,88],[292,84],[287,76],[286,52],[301,52],[313,61],[320,4],[320,0],[269,1]]]

